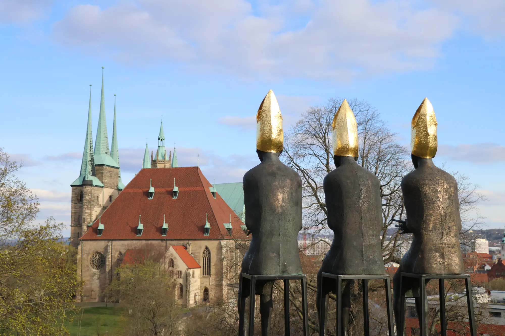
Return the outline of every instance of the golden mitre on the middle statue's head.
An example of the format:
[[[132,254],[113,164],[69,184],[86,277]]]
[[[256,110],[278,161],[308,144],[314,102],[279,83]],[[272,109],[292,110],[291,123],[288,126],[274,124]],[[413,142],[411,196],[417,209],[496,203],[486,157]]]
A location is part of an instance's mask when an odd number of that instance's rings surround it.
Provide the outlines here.
[[[347,100],[344,99],[331,123],[333,155],[358,157],[358,124]]]

